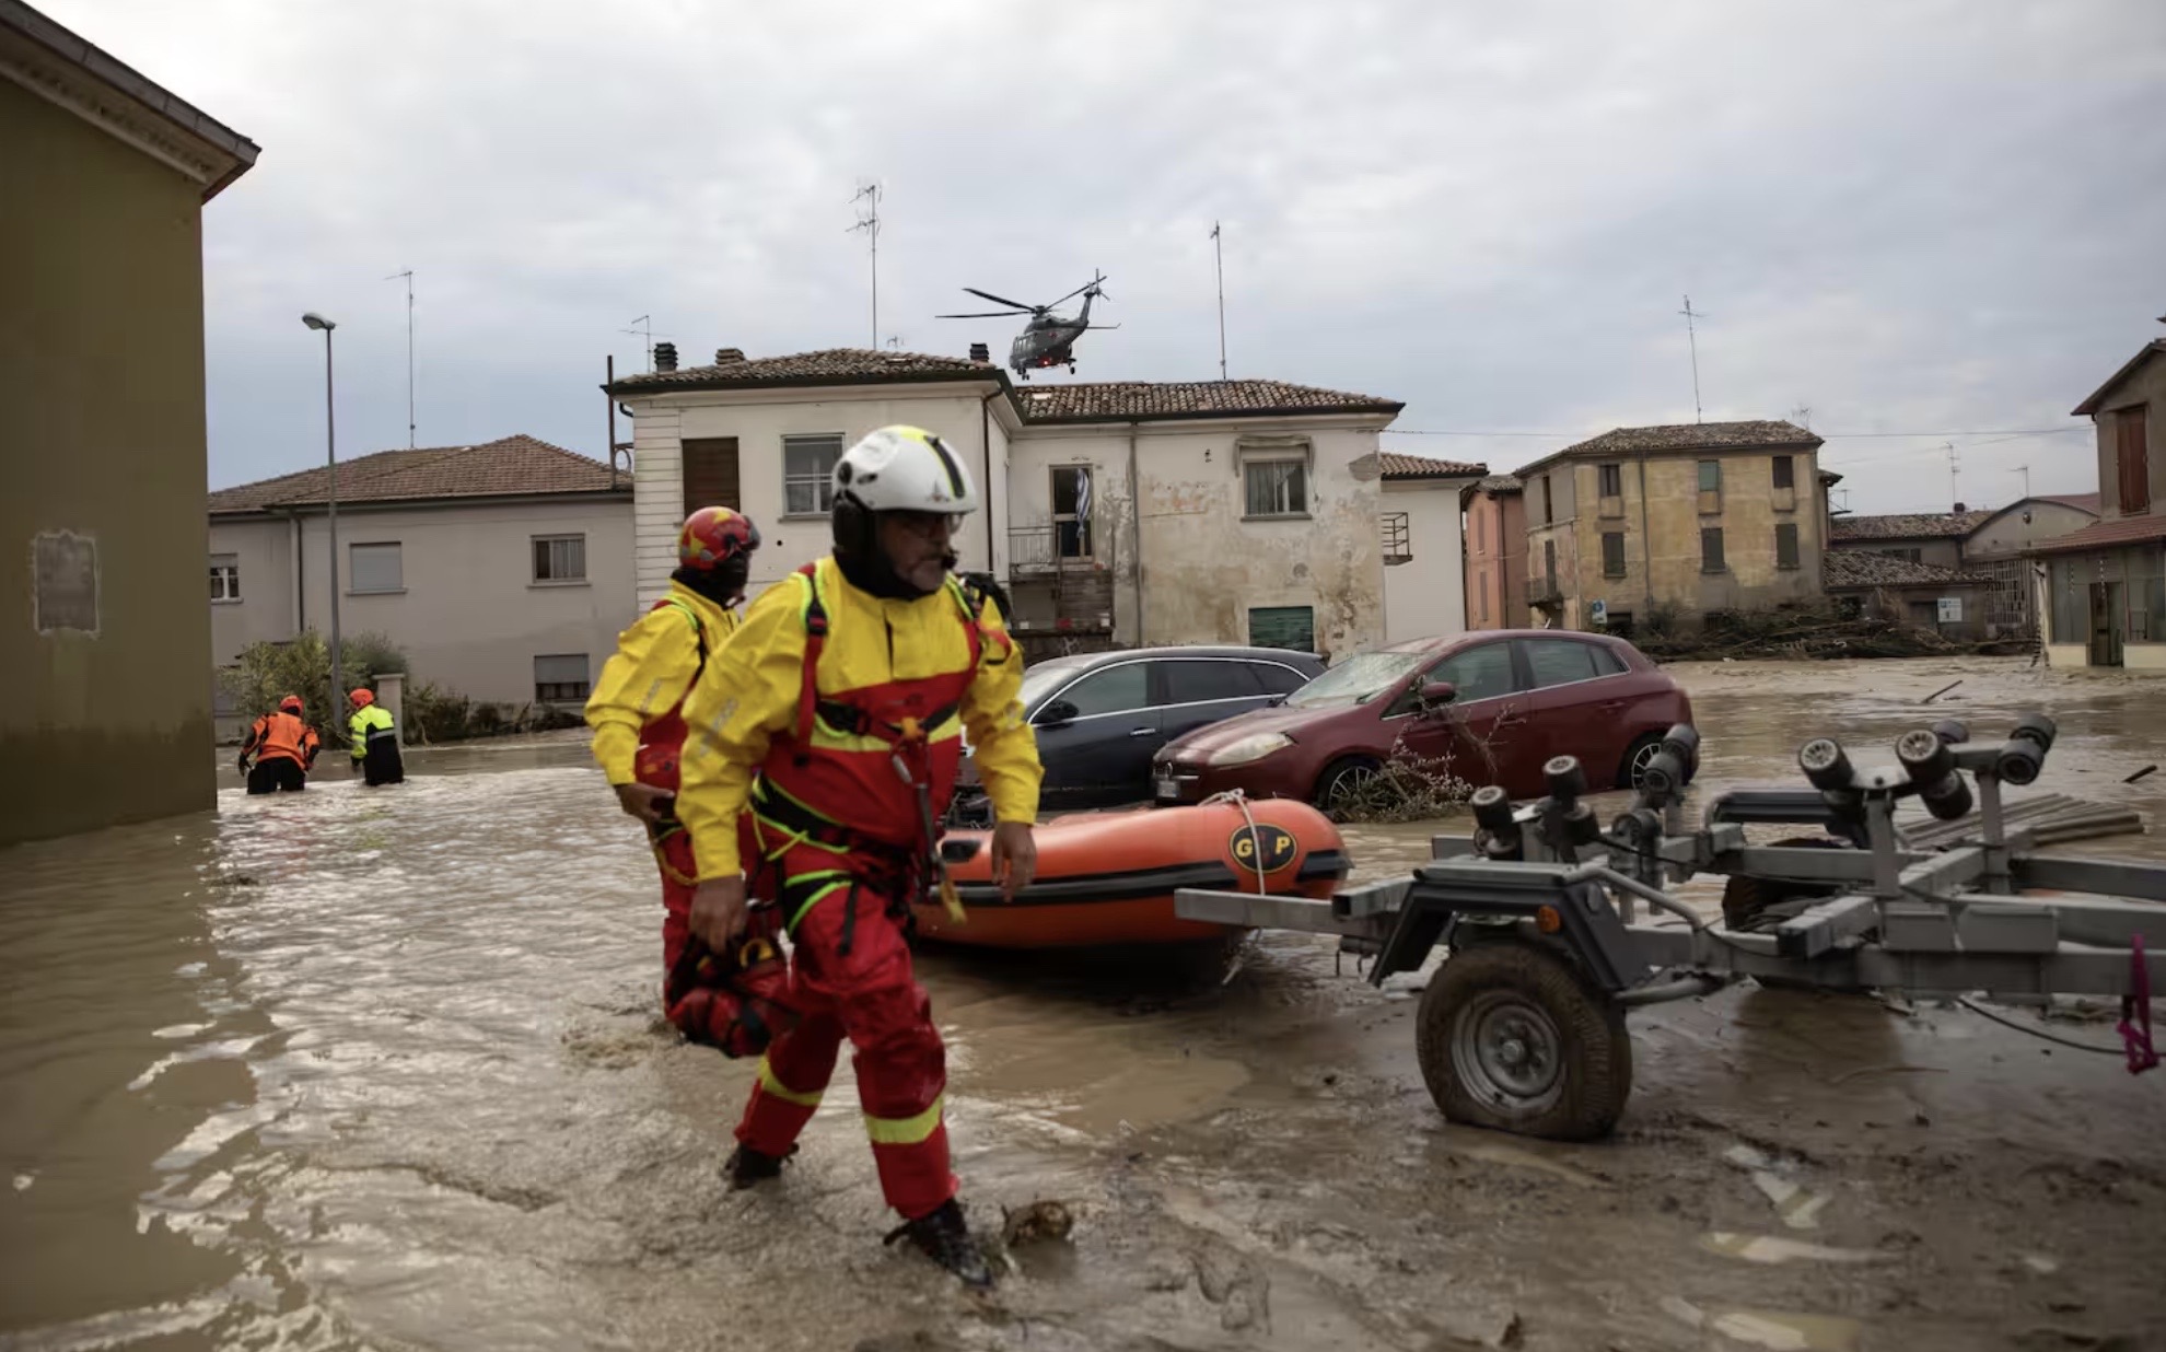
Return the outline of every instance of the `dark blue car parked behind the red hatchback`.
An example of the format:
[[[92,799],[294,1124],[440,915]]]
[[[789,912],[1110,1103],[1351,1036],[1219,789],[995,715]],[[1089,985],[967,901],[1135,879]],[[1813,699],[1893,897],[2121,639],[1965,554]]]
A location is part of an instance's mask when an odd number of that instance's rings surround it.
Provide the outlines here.
[[[1276,704],[1323,672],[1323,659],[1280,648],[1131,648],[1081,652],[1022,676],[1022,713],[1046,767],[1051,810],[1146,802],[1150,758],[1206,724]],[[964,767],[957,808],[977,815],[975,771]]]

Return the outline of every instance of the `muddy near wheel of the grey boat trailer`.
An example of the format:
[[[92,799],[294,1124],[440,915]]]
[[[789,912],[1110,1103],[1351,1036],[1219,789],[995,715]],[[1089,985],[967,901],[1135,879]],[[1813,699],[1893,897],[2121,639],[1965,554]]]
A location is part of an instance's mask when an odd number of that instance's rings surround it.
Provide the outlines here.
[[[1529,942],[1451,953],[1421,992],[1414,1053],[1436,1107],[1469,1127],[1594,1140],[1631,1096],[1622,1005]]]

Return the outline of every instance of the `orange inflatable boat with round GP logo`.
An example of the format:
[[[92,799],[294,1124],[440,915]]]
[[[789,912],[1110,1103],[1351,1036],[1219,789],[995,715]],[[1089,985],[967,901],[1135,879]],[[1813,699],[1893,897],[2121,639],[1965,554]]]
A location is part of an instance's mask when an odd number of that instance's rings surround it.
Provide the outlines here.
[[[918,936],[988,949],[1193,942],[1235,929],[1174,916],[1174,888],[1330,897],[1347,875],[1339,828],[1291,797],[1241,806],[1055,817],[1038,828],[1038,877],[1014,901],[992,886],[992,834],[949,832],[940,854],[966,919],[921,901]]]

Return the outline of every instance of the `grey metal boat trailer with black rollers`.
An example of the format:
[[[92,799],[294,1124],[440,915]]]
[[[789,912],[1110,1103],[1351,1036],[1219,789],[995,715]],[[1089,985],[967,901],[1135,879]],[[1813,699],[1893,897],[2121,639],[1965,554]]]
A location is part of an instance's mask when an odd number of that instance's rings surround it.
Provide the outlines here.
[[[1477,791],[1473,836],[1436,836],[1434,862],[1408,877],[1328,901],[1183,888],[1174,908],[1334,934],[1371,960],[1373,986],[1443,949],[1414,1023],[1421,1075],[1453,1122],[1525,1135],[1607,1135],[1631,1094],[1624,1012],[1741,977],[1910,997],[2118,994],[2140,1070],[2155,1064],[2149,994],[2166,988],[2166,864],[2036,854],[2034,815],[2004,786],[2032,784],[2053,737],[2038,713],[1997,743],[1949,719],[1904,732],[1882,769],[1813,739],[1798,750],[1806,789],[1728,791],[1687,830],[1700,737],[1679,724],[1607,830],[1579,760],[1557,756],[1542,767],[1547,797],[1514,806],[1503,789]],[[1915,836],[1895,823],[1906,797],[1936,819]],[[2060,804],[2053,838],[2071,834]],[[1754,845],[1754,826],[1819,834]],[[2092,808],[2086,834],[2131,830],[2140,817]],[[1670,890],[1700,873],[1728,880],[1720,914]]]

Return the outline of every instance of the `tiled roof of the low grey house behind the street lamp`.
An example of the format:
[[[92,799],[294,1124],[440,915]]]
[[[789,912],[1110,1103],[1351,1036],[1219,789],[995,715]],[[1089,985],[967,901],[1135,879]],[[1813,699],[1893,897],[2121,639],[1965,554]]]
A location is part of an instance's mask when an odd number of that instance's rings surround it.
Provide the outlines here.
[[[210,494],[210,511],[269,511],[325,500],[323,466],[277,479],[258,479]],[[535,440],[509,435],[479,446],[379,451],[338,461],[340,503],[412,503],[429,498],[500,498],[531,494],[609,492],[609,466]],[[630,481],[619,479],[619,492]]]

